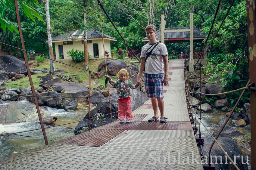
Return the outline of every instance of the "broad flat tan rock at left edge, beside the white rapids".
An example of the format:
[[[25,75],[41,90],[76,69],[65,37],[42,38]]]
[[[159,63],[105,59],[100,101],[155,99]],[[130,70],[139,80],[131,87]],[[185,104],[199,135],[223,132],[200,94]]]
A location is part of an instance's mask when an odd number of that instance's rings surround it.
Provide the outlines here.
[[[0,104],[0,124],[10,124],[18,122],[33,122],[38,120],[36,107],[34,104],[24,104],[20,102],[8,101],[10,103]],[[42,116],[44,115],[41,112]]]

